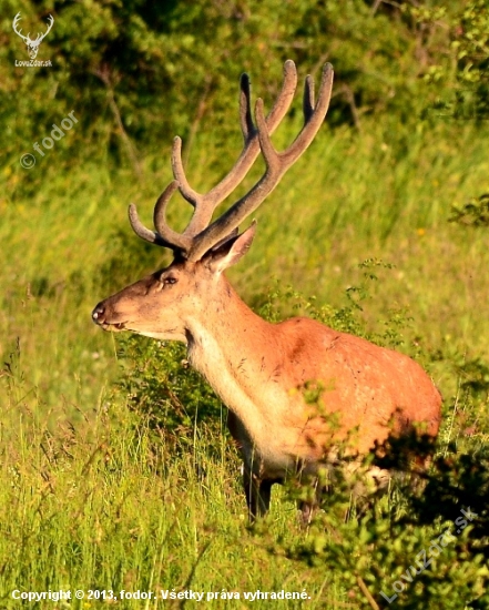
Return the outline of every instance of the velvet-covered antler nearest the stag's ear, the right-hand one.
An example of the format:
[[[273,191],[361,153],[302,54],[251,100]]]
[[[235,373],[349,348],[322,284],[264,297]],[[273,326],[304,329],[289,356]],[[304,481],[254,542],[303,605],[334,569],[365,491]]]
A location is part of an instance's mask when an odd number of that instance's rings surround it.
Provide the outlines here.
[[[295,141],[282,153],[278,153],[272,144],[271,132],[264,118],[263,100],[258,99],[256,101],[255,118],[259,145],[266,163],[265,173],[248,193],[193,240],[192,248],[187,255],[189,260],[198,261],[214,243],[223,238],[226,233],[234,230],[246,216],[252,214],[275,189],[282,175],[309,146],[319,130],[329,106],[332,87],[333,67],[326,63],[323,68],[317,103],[313,109],[314,90],[312,79],[306,79],[304,125]]]

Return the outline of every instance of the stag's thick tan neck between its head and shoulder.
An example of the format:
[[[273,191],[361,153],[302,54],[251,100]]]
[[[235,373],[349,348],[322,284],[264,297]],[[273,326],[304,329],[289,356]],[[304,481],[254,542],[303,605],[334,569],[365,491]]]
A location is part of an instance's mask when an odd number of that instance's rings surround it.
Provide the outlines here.
[[[222,277],[216,298],[187,321],[189,359],[261,446],[283,404],[276,327],[257,316]]]

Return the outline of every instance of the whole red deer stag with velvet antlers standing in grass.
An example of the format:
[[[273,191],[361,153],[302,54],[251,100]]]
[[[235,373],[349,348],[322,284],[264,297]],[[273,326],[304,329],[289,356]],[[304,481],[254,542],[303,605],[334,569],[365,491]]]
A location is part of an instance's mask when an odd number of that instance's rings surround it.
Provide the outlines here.
[[[329,104],[333,69],[326,64],[317,95],[305,81],[304,126],[295,141],[277,152],[271,133],[286,114],[297,84],[294,62],[284,65],[284,82],[265,118],[263,100],[251,111],[249,80],[241,79],[240,119],[244,146],[230,173],[210,192],[190,186],[181,156],[181,140],[172,152],[174,180],[154,207],[155,231],[146,228],[131,205],[135,233],[173,251],[165,268],[96,305],[93,321],[105,331],[132,331],[156,339],[184,342],[189,360],[230,409],[228,426],[244,460],[244,488],[251,518],[269,507],[271,487],[287,474],[314,476],[320,464],[336,459],[337,447],[355,431],[361,456],[390,433],[417,426],[436,437],[440,395],[422,368],[407,356],[339,333],[313,319],[295,317],[271,324],[258,317],[234,292],[224,271],[252,245],[256,225],[238,234],[237,226],[274,190],[319,130]],[[223,215],[216,206],[243,181],[262,152],[265,171],[256,184]],[[165,220],[179,190],[193,206],[192,218],[176,233]],[[320,413],[304,398],[308,382],[320,383]],[[335,426],[329,414],[334,414]],[[329,425],[328,425],[329,420]],[[307,518],[312,506],[304,504]]]

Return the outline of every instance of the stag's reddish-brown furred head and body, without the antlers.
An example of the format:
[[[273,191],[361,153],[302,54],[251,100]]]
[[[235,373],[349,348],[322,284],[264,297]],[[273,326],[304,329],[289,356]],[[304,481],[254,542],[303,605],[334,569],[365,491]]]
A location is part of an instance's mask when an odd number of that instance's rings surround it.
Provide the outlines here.
[[[252,516],[268,508],[273,482],[298,468],[314,472],[343,443],[361,456],[393,433],[437,435],[441,398],[417,363],[313,319],[265,322],[221,273],[235,262],[233,248],[225,264],[176,261],[95,312],[106,329],[187,344],[191,364],[231,410]],[[307,404],[312,387],[318,400]]]

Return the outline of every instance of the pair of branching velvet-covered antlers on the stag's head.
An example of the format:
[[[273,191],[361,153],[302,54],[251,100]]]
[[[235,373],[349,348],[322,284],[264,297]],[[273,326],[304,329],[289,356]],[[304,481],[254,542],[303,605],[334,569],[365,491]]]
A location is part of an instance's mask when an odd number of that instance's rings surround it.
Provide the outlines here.
[[[249,78],[241,78],[240,122],[244,138],[243,151],[230,173],[206,194],[194,191],[185,176],[182,163],[182,141],[175,138],[172,152],[174,180],[164,190],[154,207],[154,226],[156,232],[143,226],[137,217],[136,209],[131,204],[129,210],[131,226],[135,233],[156,245],[170,247],[183,254],[190,261],[198,261],[217,242],[236,230],[240,223],[252,214],[265,197],[275,189],[281,177],[307,149],[319,130],[326,115],[332,85],[333,68],[329,63],[323,69],[317,103],[314,103],[314,81],[306,78],[304,88],[304,125],[295,141],[283,152],[277,152],[271,141],[271,134],[285,116],[294,98],[297,85],[297,72],[293,61],[284,64],[284,82],[274,108],[265,118],[263,100],[255,105],[256,126],[251,112]],[[227,212],[214,221],[212,215],[216,206],[243,181],[256,160],[259,151],[265,159],[265,173],[258,182],[234,203]],[[169,227],[165,210],[170,197],[179,190],[183,197],[194,207],[192,218],[183,233],[176,233]]]

